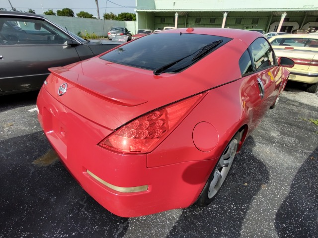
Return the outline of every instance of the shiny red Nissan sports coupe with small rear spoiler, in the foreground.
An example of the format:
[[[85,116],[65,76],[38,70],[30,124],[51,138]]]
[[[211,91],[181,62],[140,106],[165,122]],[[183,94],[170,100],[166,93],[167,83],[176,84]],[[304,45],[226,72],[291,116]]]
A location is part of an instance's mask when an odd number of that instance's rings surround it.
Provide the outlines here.
[[[258,32],[160,31],[51,68],[38,118],[61,161],[110,212],[205,206],[293,64]]]

